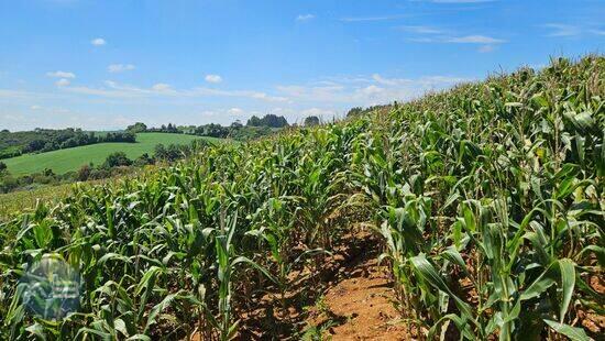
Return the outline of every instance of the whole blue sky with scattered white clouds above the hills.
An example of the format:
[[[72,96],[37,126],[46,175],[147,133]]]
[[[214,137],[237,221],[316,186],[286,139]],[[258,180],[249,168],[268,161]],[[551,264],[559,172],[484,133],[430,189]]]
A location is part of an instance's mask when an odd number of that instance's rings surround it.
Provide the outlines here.
[[[0,0],[0,129],[330,119],[603,53],[597,0]]]

